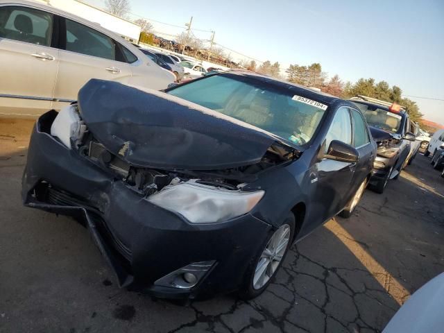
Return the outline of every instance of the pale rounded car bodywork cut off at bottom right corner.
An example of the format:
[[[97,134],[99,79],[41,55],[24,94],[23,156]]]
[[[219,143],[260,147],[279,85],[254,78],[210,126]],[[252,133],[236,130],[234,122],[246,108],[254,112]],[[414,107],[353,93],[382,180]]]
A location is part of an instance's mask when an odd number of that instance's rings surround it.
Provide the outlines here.
[[[444,273],[441,273],[413,293],[382,333],[443,332],[443,309]]]

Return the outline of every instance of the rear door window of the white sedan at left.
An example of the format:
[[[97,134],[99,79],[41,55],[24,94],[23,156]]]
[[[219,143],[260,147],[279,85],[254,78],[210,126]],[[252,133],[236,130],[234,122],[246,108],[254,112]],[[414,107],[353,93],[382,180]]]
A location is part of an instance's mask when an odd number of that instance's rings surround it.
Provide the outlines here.
[[[110,37],[70,19],[65,19],[65,21],[67,26],[65,49],[67,51],[115,60],[116,49]]]

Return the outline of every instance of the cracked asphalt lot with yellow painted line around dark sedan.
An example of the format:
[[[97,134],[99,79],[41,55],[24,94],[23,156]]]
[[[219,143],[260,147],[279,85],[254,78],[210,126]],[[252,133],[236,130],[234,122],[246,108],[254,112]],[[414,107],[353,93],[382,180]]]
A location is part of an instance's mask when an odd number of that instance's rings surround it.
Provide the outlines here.
[[[350,219],[293,246],[255,300],[179,305],[118,289],[85,228],[22,207],[32,123],[0,119],[0,332],[380,332],[444,271],[444,179],[418,155]]]

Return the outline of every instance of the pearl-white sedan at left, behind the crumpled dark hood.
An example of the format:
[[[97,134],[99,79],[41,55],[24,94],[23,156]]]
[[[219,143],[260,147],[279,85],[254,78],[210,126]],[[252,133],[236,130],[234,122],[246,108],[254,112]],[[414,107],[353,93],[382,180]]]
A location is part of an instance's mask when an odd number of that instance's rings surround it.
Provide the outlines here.
[[[45,4],[0,0],[0,114],[76,101],[91,78],[164,89],[173,77],[119,35]]]

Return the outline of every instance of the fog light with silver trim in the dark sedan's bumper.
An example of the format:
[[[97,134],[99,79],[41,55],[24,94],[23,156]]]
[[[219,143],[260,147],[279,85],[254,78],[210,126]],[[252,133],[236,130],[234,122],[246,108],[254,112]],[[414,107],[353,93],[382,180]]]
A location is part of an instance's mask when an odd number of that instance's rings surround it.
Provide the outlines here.
[[[216,260],[194,262],[165,275],[163,278],[155,281],[154,284],[163,287],[190,289],[203,279],[215,263]]]

